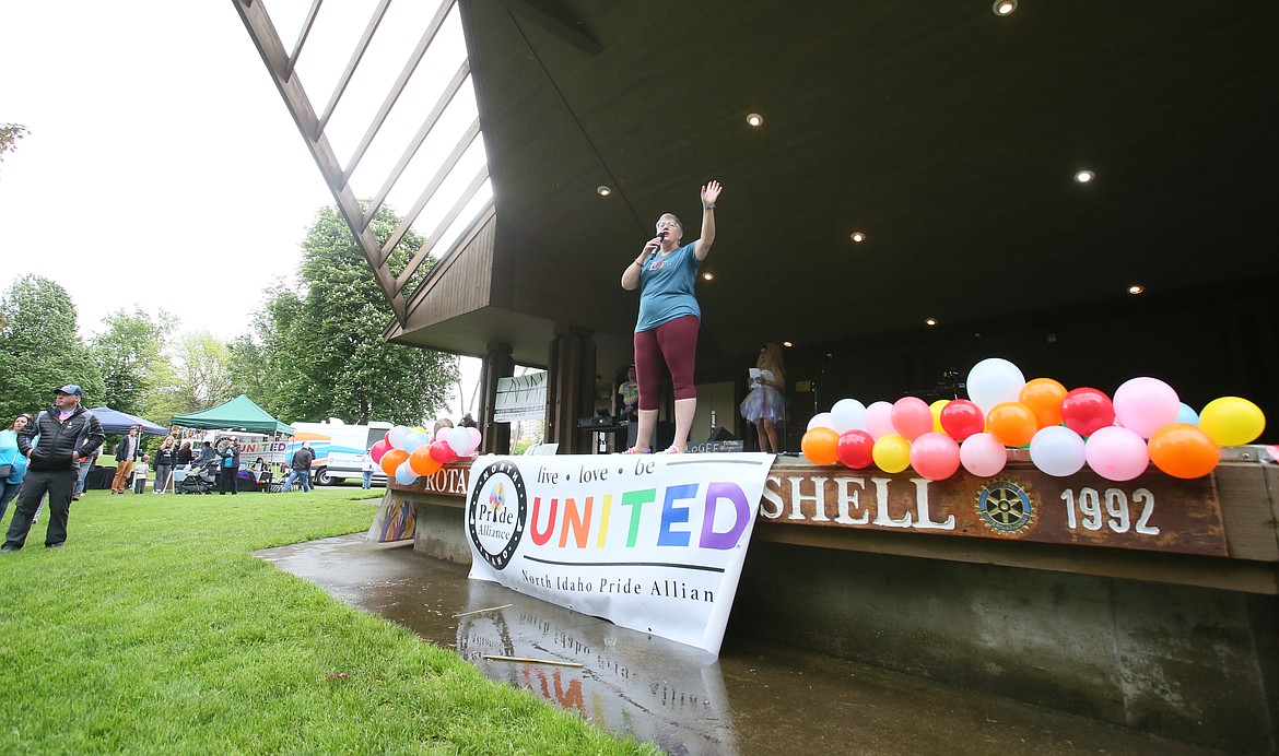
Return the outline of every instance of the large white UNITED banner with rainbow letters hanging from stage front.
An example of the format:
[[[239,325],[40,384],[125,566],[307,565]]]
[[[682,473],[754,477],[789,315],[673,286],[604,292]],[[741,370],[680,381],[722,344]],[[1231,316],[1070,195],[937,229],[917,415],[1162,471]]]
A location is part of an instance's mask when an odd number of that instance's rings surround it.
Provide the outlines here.
[[[719,654],[771,454],[481,457],[471,577]]]

